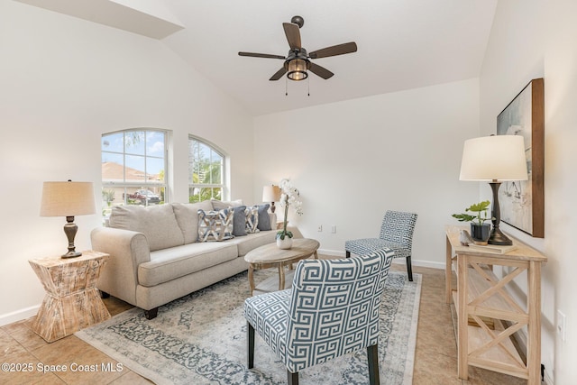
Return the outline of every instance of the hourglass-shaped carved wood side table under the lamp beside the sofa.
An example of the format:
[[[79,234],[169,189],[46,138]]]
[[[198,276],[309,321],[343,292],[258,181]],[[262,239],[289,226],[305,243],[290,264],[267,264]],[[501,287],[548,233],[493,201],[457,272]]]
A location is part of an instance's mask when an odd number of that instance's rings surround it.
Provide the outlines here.
[[[104,252],[82,252],[78,258],[31,260],[46,290],[32,330],[51,343],[110,318],[96,280],[109,258]]]

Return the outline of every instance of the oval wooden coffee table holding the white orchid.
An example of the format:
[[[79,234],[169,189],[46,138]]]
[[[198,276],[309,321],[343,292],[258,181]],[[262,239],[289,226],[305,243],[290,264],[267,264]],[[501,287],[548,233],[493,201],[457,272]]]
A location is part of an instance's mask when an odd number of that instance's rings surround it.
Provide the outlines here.
[[[278,289],[289,289],[292,284],[292,264],[294,262],[307,259],[311,255],[318,259],[316,250],[320,243],[314,239],[298,238],[292,240],[292,247],[288,250],[282,250],[277,247],[277,243],[269,243],[264,246],[247,252],[244,256],[244,261],[250,263],[249,265],[249,284],[251,285],[251,295],[253,291],[274,291]],[[289,272],[285,273],[285,266],[289,266]],[[259,284],[259,287],[254,286],[254,270],[277,268],[279,270],[279,277],[271,277]],[[287,280],[288,279],[288,280]],[[285,284],[285,282],[287,282]]]

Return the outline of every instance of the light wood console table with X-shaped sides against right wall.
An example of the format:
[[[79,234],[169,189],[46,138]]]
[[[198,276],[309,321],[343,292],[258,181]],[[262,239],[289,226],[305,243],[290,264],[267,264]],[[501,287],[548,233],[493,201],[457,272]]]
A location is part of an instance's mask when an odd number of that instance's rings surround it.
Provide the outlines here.
[[[517,246],[505,254],[477,250],[459,242],[462,226],[447,226],[445,300],[453,302],[458,316],[459,378],[467,380],[468,365],[499,371],[540,384],[541,369],[541,264],[545,255],[510,237]],[[457,273],[453,288],[452,266]],[[504,266],[503,278],[493,274]],[[527,303],[519,304],[505,285],[527,271]],[[527,327],[525,357],[517,353],[511,336]]]

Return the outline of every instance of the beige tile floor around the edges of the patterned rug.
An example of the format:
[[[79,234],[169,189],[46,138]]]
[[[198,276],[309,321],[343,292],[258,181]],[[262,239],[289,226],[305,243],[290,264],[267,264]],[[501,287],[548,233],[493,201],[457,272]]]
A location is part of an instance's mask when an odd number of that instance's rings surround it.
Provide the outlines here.
[[[392,270],[402,271],[405,267],[402,264],[394,264]],[[423,286],[413,383],[415,385],[526,384],[527,380],[473,367],[469,369],[469,380],[460,380],[457,377],[457,350],[451,307],[444,303],[444,270],[414,267],[414,271],[422,274]],[[105,299],[105,304],[113,316],[131,307],[115,298]],[[0,327],[0,362],[32,364],[32,371],[18,373],[0,371],[0,383],[114,385],[151,383],[127,368],[122,368],[121,371],[103,371],[101,366],[103,363],[116,368],[118,362],[74,335],[47,344],[32,332],[31,325],[32,319],[27,319]],[[74,362],[86,366],[70,371]],[[58,371],[58,367],[46,366],[59,364],[67,365],[69,370]],[[43,368],[46,368],[46,373],[40,371]]]

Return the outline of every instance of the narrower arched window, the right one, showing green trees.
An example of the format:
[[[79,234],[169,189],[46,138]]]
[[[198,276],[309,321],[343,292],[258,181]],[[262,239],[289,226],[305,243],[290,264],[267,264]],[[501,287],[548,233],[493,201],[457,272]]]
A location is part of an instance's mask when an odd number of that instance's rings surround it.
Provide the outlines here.
[[[193,135],[188,136],[188,202],[223,200],[224,151]]]

